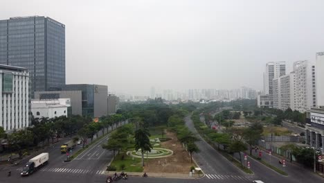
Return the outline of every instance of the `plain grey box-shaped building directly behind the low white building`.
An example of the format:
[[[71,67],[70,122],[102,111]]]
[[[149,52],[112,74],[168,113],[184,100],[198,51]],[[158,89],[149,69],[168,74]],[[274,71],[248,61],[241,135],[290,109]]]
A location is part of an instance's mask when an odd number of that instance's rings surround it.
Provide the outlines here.
[[[35,92],[35,100],[51,100],[59,98],[70,98],[71,114],[82,116],[82,91]],[[33,114],[34,113],[35,112],[33,112]]]

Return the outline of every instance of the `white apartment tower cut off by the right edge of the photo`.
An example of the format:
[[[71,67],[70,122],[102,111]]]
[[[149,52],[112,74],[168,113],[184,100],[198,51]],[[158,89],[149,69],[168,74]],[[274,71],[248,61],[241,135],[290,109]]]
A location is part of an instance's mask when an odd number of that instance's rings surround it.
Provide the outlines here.
[[[324,106],[324,52],[316,53],[316,94],[317,106]],[[312,77],[315,73],[312,73]]]

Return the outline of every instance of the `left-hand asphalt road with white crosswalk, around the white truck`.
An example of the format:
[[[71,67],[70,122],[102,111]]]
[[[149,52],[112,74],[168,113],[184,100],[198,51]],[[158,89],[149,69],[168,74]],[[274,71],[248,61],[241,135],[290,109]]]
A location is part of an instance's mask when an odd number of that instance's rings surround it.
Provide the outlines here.
[[[116,125],[114,125],[112,130],[114,129],[116,129]],[[109,129],[109,132],[110,131],[111,129]],[[106,131],[105,134],[107,134]],[[101,136],[102,132],[100,131],[98,137]],[[96,138],[97,137],[94,139]],[[24,164],[28,162],[28,159],[25,159],[18,166],[12,166],[8,170],[0,172],[0,182],[67,182],[70,177],[74,177],[75,180],[78,180],[77,182],[82,182],[84,180],[86,182],[96,182],[98,177],[101,177],[102,180],[102,176],[106,176],[106,166],[111,162],[113,157],[110,151],[102,149],[101,147],[101,144],[106,143],[108,138],[109,135],[100,139],[100,141],[97,141],[71,162],[64,162],[66,154],[60,152],[60,146],[65,141],[68,141],[69,138],[62,139],[59,143],[56,143],[45,150],[39,151],[39,154],[45,152],[49,153],[48,164],[40,168],[39,171],[28,177],[21,177],[21,170]],[[88,142],[90,141],[91,140],[88,139]],[[73,155],[80,148],[82,148],[82,144],[73,148],[70,155]],[[11,177],[7,177],[8,171],[12,172]],[[44,179],[46,181],[44,181]]]

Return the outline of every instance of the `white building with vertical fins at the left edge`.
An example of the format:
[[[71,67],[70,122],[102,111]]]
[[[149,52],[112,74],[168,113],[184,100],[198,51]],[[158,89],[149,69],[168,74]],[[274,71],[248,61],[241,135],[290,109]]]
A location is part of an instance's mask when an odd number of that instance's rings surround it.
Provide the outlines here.
[[[28,83],[27,69],[0,64],[0,126],[6,131],[29,126]]]

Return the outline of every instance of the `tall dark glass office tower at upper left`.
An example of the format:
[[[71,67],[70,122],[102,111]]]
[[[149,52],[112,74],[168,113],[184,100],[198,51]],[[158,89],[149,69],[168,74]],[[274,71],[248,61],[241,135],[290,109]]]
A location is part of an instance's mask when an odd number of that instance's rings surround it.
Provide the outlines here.
[[[49,17],[0,20],[0,64],[28,69],[30,92],[65,85],[65,26]]]

